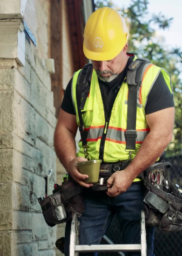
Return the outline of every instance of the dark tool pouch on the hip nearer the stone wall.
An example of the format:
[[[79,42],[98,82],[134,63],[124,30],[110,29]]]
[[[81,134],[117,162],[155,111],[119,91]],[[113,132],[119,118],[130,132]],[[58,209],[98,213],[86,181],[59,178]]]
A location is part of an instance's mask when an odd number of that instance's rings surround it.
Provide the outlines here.
[[[71,177],[53,190],[53,194],[42,199],[38,198],[42,214],[48,226],[67,222],[72,212],[80,217],[85,210],[82,188]]]

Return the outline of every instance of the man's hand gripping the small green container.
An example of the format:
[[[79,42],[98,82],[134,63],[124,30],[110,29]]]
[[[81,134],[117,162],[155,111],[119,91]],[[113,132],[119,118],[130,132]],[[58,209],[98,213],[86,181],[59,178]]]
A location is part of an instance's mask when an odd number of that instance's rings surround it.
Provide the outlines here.
[[[83,161],[88,161],[88,159],[82,157],[82,156],[78,156],[73,158],[70,162],[69,162],[69,169],[68,172],[71,175],[71,177],[78,182],[81,186],[85,187],[85,188],[89,188],[93,186],[93,183],[85,183],[84,179],[88,178],[87,174],[81,174],[76,166],[77,162],[83,162]]]

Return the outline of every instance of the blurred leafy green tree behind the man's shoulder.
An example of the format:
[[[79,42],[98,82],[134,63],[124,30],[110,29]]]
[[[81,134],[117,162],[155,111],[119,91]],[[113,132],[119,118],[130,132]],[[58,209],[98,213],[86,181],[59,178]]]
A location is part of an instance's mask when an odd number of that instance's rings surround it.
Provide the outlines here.
[[[95,0],[96,8],[103,6],[114,7],[112,1]],[[168,49],[164,41],[159,40],[155,34],[157,29],[168,29],[173,18],[166,19],[161,13],[153,14],[150,18],[147,0],[132,0],[126,9],[118,9],[118,12],[125,18],[129,28],[128,51],[134,52],[136,56],[148,58],[160,67],[164,67],[172,78],[175,102],[175,125],[174,136],[169,144],[166,155],[181,154],[181,93],[182,93],[182,49]]]

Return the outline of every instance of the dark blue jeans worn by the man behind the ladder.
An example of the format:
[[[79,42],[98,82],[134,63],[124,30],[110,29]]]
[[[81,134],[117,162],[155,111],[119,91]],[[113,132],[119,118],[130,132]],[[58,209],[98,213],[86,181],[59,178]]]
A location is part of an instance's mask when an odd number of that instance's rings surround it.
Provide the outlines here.
[[[144,184],[133,182],[128,190],[116,197],[109,197],[104,191],[84,189],[85,212],[80,217],[80,244],[100,244],[105,232],[116,214],[122,231],[123,244],[140,244],[141,210],[144,209]],[[65,229],[65,256],[69,255],[70,223]],[[147,227],[147,256],[153,254],[154,228]],[[80,253],[94,256],[94,253]],[[125,256],[139,256],[141,252],[125,252]]]

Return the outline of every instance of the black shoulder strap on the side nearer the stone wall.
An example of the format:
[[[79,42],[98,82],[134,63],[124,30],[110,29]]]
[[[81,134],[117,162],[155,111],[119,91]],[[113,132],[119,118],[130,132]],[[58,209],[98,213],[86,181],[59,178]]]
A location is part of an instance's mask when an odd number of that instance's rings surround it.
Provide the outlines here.
[[[93,70],[92,64],[86,64],[79,73],[77,86],[76,86],[77,109],[78,109],[78,116],[80,121],[79,131],[80,131],[83,146],[87,145],[87,136],[86,136],[86,132],[84,132],[84,125],[83,125],[81,110],[84,109],[84,105],[85,105],[88,93],[90,91],[92,70]]]

